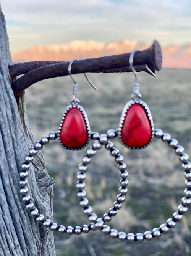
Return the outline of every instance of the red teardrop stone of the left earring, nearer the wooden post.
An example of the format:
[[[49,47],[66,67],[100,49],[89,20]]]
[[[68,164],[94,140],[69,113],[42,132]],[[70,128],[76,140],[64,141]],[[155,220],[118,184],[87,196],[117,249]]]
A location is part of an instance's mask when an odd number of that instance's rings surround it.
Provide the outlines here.
[[[60,140],[66,147],[78,148],[87,141],[87,127],[82,112],[73,107],[68,110],[60,130]]]

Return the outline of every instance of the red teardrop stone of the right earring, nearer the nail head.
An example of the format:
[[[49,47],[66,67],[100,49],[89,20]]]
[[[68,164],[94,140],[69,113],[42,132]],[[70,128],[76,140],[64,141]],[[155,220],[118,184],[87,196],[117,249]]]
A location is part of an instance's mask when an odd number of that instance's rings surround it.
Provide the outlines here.
[[[151,140],[151,126],[145,109],[140,104],[129,107],[123,127],[121,139],[128,147],[143,147]]]

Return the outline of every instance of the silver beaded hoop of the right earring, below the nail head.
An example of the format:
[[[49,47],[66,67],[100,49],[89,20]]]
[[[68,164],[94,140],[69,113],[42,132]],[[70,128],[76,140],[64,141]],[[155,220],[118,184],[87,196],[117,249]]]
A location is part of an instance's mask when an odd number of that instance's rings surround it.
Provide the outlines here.
[[[107,134],[108,134],[108,137],[114,138],[117,136],[117,130],[108,130]],[[101,135],[101,136],[103,136],[103,140],[104,140],[104,137],[106,137],[105,134]],[[99,142],[101,142],[101,140],[102,140],[101,136],[99,137]],[[187,206],[191,203],[191,162],[188,161],[188,155],[186,153],[184,153],[184,148],[181,145],[178,145],[178,141],[176,139],[171,139],[170,134],[163,133],[161,129],[155,129],[154,136],[156,138],[161,138],[162,141],[167,143],[172,149],[174,149],[175,154],[178,155],[178,158],[179,158],[180,162],[182,163],[182,167],[185,170],[185,178],[186,178],[186,181],[185,181],[186,188],[184,190],[185,196],[182,198],[181,204],[178,206],[178,211],[173,213],[173,217],[169,218],[167,220],[167,223],[161,224],[159,228],[154,228],[152,231],[145,231],[144,234],[138,232],[134,235],[133,233],[126,234],[123,231],[118,232],[116,229],[111,229],[109,225],[104,224],[106,221],[108,221],[107,219],[105,219],[104,217],[98,218],[94,224],[95,228],[102,230],[102,232],[105,235],[109,235],[111,238],[118,238],[121,241],[126,240],[129,243],[133,243],[134,241],[142,242],[144,239],[146,239],[147,241],[150,241],[153,237],[159,237],[162,233],[164,233],[164,234],[168,233],[170,228],[174,228],[176,225],[176,221],[180,221],[182,219],[182,215],[184,213],[186,213],[186,211],[188,210]],[[105,141],[106,141],[106,139],[105,139]],[[110,142],[108,142],[108,143],[110,144]],[[108,147],[110,147],[109,144],[108,144]],[[105,147],[107,148],[107,143],[105,143]],[[95,149],[94,143],[92,144],[92,148]],[[89,155],[88,155],[88,150],[87,150],[87,155],[85,157],[88,157],[88,156]],[[81,165],[79,165],[79,167],[80,166]],[[77,175],[77,177],[78,177],[78,175]],[[78,180],[79,180],[79,178],[78,178]],[[83,179],[83,183],[84,183],[84,187],[85,187],[84,180],[85,180],[85,178]],[[84,195],[86,195],[86,192],[83,192],[83,193],[84,193]],[[85,196],[84,196],[84,198],[85,198]],[[82,197],[82,199],[83,199],[83,197]],[[114,208],[115,208],[115,205],[114,205]],[[117,208],[116,208],[116,211],[117,211]]]

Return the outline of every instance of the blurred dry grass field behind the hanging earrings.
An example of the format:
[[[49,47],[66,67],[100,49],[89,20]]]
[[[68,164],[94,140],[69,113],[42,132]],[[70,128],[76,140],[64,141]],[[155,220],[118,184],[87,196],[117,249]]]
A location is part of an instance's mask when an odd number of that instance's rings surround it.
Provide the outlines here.
[[[130,100],[132,73],[89,74],[97,91],[83,74],[76,75],[78,98],[89,118],[91,131],[100,134],[118,127],[121,111]],[[191,70],[163,69],[157,78],[138,74],[142,100],[149,106],[154,127],[178,139],[191,156]],[[55,78],[34,84],[26,90],[29,122],[36,140],[58,130],[60,119],[72,97],[70,77]],[[167,144],[154,139],[141,150],[129,150],[113,140],[128,165],[129,185],[126,201],[112,218],[110,226],[126,233],[143,232],[159,227],[172,217],[183,197],[184,172],[178,157]],[[54,216],[63,225],[88,224],[76,196],[76,173],[86,149],[71,152],[58,141],[50,142],[43,152],[49,175],[55,179]],[[120,177],[109,152],[101,149],[92,158],[86,178],[87,198],[95,213],[102,216],[113,206]],[[189,256],[191,255],[191,209],[168,234],[152,241],[128,244],[90,231],[81,236],[55,233],[57,256]]]

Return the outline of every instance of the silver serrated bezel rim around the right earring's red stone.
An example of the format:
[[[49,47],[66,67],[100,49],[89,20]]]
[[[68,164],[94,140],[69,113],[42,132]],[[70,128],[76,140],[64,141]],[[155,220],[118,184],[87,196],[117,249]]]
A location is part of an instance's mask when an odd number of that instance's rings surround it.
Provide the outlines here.
[[[144,145],[142,147],[129,147],[121,139],[121,130],[122,130],[122,127],[123,127],[123,123],[124,123],[126,114],[127,114],[128,110],[129,110],[129,108],[132,105],[134,105],[134,104],[139,104],[139,105],[141,105],[144,108],[144,110],[146,112],[146,115],[147,115],[147,117],[149,119],[150,127],[151,127],[151,139],[149,140],[149,142],[146,145]],[[119,137],[119,140],[120,140],[121,144],[123,144],[128,149],[143,149],[144,147],[147,147],[149,144],[151,144],[151,141],[154,138],[154,124],[153,124],[153,121],[152,121],[151,111],[150,111],[149,107],[141,99],[132,99],[131,101],[127,102],[127,104],[125,105],[125,107],[124,107],[124,109],[122,111],[121,117],[120,117],[120,123],[119,123],[119,128],[118,128],[118,137]]]

